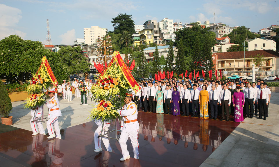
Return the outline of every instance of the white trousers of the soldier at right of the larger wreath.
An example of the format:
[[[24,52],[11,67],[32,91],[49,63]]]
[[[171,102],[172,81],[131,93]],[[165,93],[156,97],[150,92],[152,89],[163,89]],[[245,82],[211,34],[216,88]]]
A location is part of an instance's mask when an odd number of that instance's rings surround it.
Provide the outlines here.
[[[124,158],[129,156],[129,152],[128,152],[127,144],[126,144],[126,142],[128,140],[128,137],[130,137],[130,139],[131,139],[131,143],[132,143],[133,150],[134,150],[134,158],[139,157],[140,145],[137,142],[137,133],[138,133],[138,130],[135,130],[135,131],[132,131],[132,132],[129,132],[129,133],[126,132],[126,128],[123,128],[121,130],[121,135],[120,135],[120,138],[119,138],[119,144],[120,144],[120,147],[121,147],[121,150],[122,150],[122,155],[123,155]]]

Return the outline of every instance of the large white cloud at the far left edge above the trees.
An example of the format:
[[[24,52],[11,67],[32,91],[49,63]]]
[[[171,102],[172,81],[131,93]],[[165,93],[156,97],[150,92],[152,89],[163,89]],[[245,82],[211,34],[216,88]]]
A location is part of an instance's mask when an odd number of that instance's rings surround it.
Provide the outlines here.
[[[21,10],[0,4],[0,39],[10,35],[18,35],[22,39],[26,36],[25,32],[16,30],[17,23],[22,19]]]

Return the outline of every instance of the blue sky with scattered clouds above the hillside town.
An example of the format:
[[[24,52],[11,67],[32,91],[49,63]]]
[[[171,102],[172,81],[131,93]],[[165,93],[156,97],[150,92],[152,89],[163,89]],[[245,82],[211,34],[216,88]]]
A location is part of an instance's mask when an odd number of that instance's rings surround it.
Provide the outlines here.
[[[83,28],[113,30],[111,19],[131,14],[135,24],[164,17],[190,23],[209,20],[229,26],[246,26],[252,32],[279,24],[279,0],[235,1],[128,1],[128,0],[0,0],[0,39],[17,34],[23,39],[46,42],[47,23],[53,44],[73,44],[83,38]]]

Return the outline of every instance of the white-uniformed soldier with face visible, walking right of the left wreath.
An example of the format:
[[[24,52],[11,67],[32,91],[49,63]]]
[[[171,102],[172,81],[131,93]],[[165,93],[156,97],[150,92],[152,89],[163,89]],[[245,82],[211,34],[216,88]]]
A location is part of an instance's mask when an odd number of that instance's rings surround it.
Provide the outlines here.
[[[62,116],[61,111],[59,109],[59,101],[57,97],[55,96],[55,90],[49,88],[49,103],[47,104],[47,107],[49,108],[49,116],[47,117],[47,131],[49,132],[49,137],[48,139],[51,139],[53,137],[56,137],[58,139],[61,139],[60,135],[60,129],[59,129],[59,124],[58,124],[58,118]],[[56,131],[56,135],[54,133],[53,126]]]

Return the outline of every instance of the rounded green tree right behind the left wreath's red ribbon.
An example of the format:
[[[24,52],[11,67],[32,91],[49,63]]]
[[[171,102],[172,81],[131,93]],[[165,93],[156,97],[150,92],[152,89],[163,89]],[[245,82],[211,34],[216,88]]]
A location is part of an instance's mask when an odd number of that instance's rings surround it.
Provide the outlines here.
[[[70,74],[90,71],[87,59],[80,53],[81,47],[61,47],[57,52],[57,56],[69,68]]]

